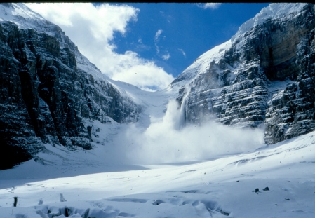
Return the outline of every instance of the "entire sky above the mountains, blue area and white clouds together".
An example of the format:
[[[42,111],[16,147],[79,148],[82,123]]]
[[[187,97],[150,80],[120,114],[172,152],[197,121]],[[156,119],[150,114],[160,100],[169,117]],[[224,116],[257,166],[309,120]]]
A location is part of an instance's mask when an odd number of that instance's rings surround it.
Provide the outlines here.
[[[103,74],[142,90],[166,88],[207,50],[269,4],[28,3],[59,25]]]

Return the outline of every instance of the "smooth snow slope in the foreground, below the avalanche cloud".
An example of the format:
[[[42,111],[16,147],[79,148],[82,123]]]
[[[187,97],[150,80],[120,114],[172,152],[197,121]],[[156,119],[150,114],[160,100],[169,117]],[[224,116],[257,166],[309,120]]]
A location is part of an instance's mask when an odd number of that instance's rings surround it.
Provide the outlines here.
[[[311,132],[199,163],[135,167],[78,158],[79,163],[47,166],[28,161],[0,172],[0,217],[59,212],[56,217],[312,217],[314,156]]]

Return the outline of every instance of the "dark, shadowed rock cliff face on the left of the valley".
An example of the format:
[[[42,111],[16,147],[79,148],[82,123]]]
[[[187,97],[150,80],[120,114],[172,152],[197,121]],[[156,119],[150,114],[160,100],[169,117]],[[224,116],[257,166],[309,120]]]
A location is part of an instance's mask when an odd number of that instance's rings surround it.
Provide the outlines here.
[[[138,121],[138,106],[126,93],[45,22],[48,34],[0,22],[1,169],[32,158],[43,143],[92,149],[94,120]]]

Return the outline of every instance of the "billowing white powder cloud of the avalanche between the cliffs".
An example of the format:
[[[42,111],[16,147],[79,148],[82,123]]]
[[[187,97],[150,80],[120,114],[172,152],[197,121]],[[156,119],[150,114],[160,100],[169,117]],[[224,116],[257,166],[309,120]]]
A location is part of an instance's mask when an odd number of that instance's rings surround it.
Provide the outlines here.
[[[183,127],[182,112],[178,103],[170,100],[165,116],[152,117],[148,128],[128,125],[115,139],[115,147],[120,149],[116,153],[125,154],[120,161],[133,164],[201,161],[250,151],[264,143],[262,129],[232,128],[211,121]]]

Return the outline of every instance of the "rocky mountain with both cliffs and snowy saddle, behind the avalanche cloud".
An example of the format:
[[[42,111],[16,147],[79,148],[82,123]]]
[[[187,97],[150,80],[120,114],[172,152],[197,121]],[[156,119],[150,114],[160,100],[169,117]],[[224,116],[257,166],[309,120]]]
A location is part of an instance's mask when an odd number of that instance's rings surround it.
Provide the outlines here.
[[[156,93],[107,78],[24,4],[0,6],[0,137],[11,157],[1,168],[37,160],[45,144],[104,144],[96,121],[148,127],[173,98],[178,128],[208,121],[263,128],[267,144],[315,128],[314,4],[270,4]]]

